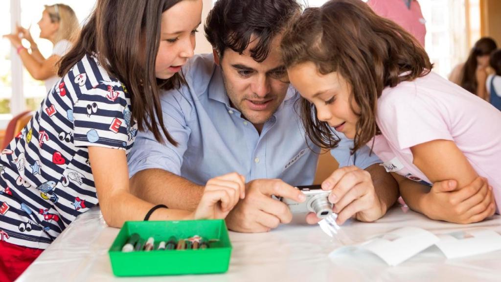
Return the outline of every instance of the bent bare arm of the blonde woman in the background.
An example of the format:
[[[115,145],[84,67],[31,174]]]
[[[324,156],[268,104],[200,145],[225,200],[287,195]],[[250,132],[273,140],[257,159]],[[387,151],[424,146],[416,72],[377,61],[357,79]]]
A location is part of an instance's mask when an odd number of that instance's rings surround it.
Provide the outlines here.
[[[35,56],[28,53],[26,49],[22,50],[19,56],[28,72],[33,78],[38,80],[46,80],[55,76],[57,72],[56,64],[61,59],[58,55],[52,55],[47,60],[39,61]]]

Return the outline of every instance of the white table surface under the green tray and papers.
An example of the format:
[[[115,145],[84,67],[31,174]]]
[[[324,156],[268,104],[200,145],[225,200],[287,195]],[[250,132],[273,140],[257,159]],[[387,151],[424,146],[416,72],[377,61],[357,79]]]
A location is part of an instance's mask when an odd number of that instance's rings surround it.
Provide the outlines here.
[[[111,271],[107,251],[119,229],[106,226],[94,208],[71,224],[18,281],[501,281],[501,251],[446,259],[433,246],[398,266],[388,266],[362,251],[331,259],[328,254],[341,243],[318,225],[299,221],[269,233],[230,232],[233,251],[224,274],[118,278]],[[412,211],[404,213],[397,207],[375,223],[351,221],[342,230],[354,242],[361,242],[404,226],[435,234],[478,228],[501,233],[501,216],[458,225]]]

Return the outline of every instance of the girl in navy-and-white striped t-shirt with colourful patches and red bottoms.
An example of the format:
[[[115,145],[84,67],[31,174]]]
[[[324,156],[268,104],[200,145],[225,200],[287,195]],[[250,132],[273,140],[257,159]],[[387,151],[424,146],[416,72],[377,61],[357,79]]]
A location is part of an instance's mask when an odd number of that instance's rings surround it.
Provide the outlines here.
[[[120,227],[148,218],[224,218],[243,198],[236,173],[209,180],[194,212],[129,192],[127,154],[137,130],[176,144],[159,93],[184,83],[180,70],[193,56],[201,12],[202,0],[97,2],[61,62],[62,79],[0,156],[1,281],[15,280],[98,203],[106,223]]]

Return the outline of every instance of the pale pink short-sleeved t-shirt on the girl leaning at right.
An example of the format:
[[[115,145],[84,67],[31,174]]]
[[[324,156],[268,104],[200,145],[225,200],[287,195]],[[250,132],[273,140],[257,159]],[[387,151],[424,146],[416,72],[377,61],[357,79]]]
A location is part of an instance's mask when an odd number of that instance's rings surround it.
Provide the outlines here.
[[[373,150],[387,171],[431,183],[413,165],[410,148],[452,140],[476,173],[488,179],[501,210],[501,111],[434,72],[385,88],[377,106],[382,135],[374,137]]]

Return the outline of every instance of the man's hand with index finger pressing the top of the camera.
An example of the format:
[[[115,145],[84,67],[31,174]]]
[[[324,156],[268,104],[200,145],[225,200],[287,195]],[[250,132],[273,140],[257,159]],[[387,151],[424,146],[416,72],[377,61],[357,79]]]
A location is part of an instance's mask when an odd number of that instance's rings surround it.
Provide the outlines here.
[[[280,223],[289,223],[289,207],[271,196],[303,202],[305,195],[280,179],[257,179],[246,184],[245,199],[226,217],[228,228],[237,232],[268,232]]]

